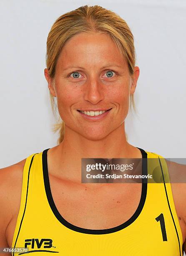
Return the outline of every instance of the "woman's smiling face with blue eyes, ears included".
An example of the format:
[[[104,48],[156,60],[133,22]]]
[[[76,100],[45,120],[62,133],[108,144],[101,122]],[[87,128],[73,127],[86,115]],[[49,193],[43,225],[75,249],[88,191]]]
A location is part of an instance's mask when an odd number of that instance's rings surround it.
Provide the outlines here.
[[[66,42],[54,79],[45,69],[49,90],[57,97],[66,127],[89,139],[104,138],[123,123],[138,76],[139,68],[135,67],[131,79],[112,39],[106,33],[94,32],[80,33]],[[92,117],[78,110],[109,111]]]

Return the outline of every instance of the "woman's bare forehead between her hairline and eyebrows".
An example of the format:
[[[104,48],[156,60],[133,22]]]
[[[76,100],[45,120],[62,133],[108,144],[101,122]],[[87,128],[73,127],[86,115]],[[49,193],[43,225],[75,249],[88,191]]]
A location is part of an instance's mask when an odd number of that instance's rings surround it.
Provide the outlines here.
[[[66,66],[77,64],[82,66],[98,66],[104,64],[125,63],[119,49],[107,33],[80,33],[70,38],[63,46],[58,64]]]

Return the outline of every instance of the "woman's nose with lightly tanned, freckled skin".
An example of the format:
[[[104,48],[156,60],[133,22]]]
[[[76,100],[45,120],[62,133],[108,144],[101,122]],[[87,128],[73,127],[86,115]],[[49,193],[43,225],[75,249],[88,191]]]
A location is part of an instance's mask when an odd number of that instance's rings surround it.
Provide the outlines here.
[[[87,100],[92,104],[97,104],[104,99],[103,84],[95,76],[89,77],[84,86],[84,100]]]

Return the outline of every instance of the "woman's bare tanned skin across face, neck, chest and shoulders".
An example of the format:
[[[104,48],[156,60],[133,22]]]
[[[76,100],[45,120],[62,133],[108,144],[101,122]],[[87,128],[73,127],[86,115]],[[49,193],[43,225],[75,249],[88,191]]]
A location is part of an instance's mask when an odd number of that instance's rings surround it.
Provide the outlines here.
[[[108,70],[113,71],[113,77],[107,77]],[[80,77],[73,78],[73,72],[79,72]],[[50,78],[48,69],[44,73],[65,122],[63,142],[48,150],[48,172],[55,205],[66,220],[83,228],[103,229],[120,225],[136,210],[141,184],[82,184],[81,158],[141,158],[138,148],[126,141],[124,122],[130,94],[136,90],[139,68],[134,68],[131,77],[108,35],[81,33],[63,47],[55,77]],[[112,110],[103,120],[92,121],[85,120],[77,112],[77,109],[88,108]],[[12,245],[25,160],[0,170],[0,247]],[[175,169],[178,167],[176,164]],[[183,205],[186,185],[171,184],[171,187],[185,241]],[[91,213],[91,223],[86,220],[87,212]]]

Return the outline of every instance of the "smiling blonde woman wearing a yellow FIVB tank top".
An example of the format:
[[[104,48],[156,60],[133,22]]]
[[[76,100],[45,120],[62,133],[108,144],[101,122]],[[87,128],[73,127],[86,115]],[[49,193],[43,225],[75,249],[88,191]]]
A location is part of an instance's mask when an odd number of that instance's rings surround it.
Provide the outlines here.
[[[46,64],[53,110],[56,98],[63,120],[58,146],[1,170],[0,247],[32,255],[183,255],[183,185],[81,182],[83,158],[142,159],[147,174],[145,160],[159,156],[126,140],[139,77],[126,22],[98,5],[61,15],[48,35]]]

